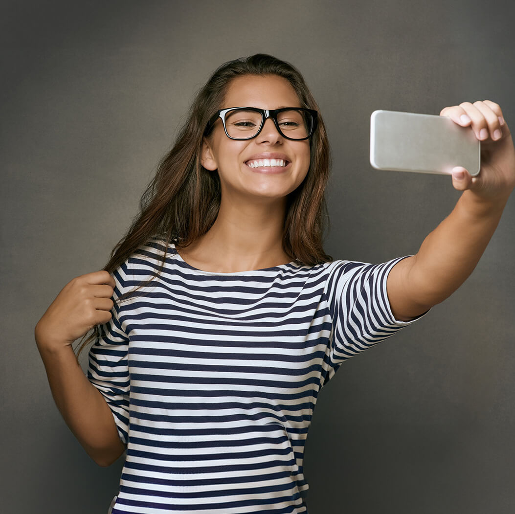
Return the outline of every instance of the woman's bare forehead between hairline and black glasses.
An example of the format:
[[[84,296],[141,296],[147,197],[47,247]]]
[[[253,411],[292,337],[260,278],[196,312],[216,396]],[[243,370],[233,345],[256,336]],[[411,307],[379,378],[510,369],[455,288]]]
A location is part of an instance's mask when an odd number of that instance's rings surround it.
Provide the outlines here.
[[[227,107],[259,107],[279,109],[301,107],[299,97],[291,84],[278,75],[245,75],[229,84],[224,105]]]

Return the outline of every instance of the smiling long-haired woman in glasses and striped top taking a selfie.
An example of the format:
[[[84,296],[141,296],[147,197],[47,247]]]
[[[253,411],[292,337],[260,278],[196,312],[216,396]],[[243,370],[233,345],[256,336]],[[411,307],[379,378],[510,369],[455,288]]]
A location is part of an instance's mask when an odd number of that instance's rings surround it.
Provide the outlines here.
[[[482,141],[482,169],[453,170],[453,212],[415,256],[332,261],[317,111],[288,63],[218,68],[105,270],[68,283],[39,321],[70,429],[102,466],[127,451],[114,514],[307,512],[322,385],[451,295],[494,232],[515,151],[499,106],[465,102],[440,114]],[[85,378],[72,343],[94,325]]]

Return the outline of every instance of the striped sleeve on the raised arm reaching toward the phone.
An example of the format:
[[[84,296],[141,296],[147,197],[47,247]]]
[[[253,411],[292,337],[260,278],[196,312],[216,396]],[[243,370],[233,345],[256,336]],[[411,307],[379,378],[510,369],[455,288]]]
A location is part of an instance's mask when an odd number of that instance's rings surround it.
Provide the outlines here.
[[[399,261],[383,264],[338,261],[328,280],[328,301],[332,318],[330,363],[335,369],[346,359],[362,352],[413,323],[394,318],[386,280]]]

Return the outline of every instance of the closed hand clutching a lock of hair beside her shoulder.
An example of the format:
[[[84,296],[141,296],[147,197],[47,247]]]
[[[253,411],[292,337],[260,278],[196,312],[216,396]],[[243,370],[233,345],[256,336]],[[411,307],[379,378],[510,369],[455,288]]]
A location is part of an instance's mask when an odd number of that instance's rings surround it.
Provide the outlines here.
[[[94,325],[107,323],[113,308],[113,277],[94,271],[68,282],[50,304],[35,329],[40,350],[60,350],[82,337]]]

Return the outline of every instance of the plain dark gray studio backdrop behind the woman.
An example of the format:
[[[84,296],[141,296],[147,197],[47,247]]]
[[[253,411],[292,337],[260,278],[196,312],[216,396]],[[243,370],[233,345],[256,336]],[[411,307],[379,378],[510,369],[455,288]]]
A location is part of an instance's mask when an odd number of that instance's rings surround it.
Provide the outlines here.
[[[266,52],[303,72],[333,151],[335,259],[417,251],[459,194],[368,162],[375,109],[499,102],[515,127],[515,8],[413,2],[2,3],[2,465],[6,514],[105,514],[99,468],[53,403],[33,328],[100,269],[218,64]],[[306,448],[310,513],[508,514],[515,506],[515,198],[468,282],[344,364]]]

